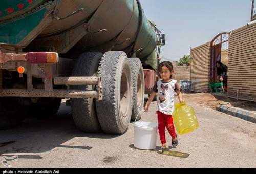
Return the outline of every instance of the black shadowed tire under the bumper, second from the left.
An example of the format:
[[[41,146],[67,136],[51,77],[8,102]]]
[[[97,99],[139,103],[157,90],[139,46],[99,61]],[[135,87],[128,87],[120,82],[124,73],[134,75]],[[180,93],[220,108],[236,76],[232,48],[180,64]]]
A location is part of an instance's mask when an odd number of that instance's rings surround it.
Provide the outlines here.
[[[60,104],[61,98],[39,98],[30,106],[29,114],[37,117],[49,117],[58,112]]]

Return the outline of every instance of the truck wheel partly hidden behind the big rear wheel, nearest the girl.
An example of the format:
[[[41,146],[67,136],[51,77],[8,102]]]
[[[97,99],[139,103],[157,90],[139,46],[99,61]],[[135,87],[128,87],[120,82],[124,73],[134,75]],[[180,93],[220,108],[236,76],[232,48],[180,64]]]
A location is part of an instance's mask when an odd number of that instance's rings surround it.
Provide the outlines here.
[[[132,67],[133,76],[133,111],[131,120],[135,121],[136,116],[143,110],[144,106],[144,72],[139,58],[130,58],[129,61]],[[141,113],[137,117],[137,120],[140,119]]]

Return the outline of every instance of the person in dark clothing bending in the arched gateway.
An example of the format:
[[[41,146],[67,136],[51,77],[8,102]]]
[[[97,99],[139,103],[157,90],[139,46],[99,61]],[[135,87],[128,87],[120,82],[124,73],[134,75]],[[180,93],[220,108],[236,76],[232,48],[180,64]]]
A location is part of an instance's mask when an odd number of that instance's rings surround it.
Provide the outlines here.
[[[221,61],[216,62],[217,82],[223,81],[224,93],[227,93],[227,69],[228,67]]]

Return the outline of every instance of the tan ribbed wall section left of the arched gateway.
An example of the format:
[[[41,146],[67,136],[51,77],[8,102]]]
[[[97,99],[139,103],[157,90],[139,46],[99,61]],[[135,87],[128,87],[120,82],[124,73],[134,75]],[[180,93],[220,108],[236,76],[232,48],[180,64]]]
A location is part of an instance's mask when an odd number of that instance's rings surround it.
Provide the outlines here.
[[[191,49],[191,91],[208,92],[210,83],[210,42]]]

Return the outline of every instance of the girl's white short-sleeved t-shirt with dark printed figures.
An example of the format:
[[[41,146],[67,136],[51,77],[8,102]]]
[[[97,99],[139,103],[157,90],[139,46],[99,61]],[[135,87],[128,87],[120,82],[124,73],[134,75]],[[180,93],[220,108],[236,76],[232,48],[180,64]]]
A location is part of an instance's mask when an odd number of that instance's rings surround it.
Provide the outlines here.
[[[159,80],[156,82],[153,91],[157,93],[157,111],[167,115],[174,112],[175,92],[180,90],[177,80],[171,80],[167,83]]]

